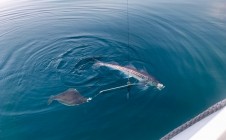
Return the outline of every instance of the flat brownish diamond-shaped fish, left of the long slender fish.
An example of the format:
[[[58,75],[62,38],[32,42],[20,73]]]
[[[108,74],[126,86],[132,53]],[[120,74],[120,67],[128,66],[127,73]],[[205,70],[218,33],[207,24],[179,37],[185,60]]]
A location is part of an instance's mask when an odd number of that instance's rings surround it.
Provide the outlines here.
[[[51,104],[54,100],[66,106],[75,106],[89,102],[91,98],[86,98],[76,89],[70,88],[60,94],[50,96],[48,104]]]

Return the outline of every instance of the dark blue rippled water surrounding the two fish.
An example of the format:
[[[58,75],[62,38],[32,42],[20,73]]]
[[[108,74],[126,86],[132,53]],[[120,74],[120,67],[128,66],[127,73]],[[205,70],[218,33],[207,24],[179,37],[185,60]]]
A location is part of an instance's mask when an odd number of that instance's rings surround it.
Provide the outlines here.
[[[155,140],[224,99],[226,1],[2,0],[1,140]],[[123,85],[87,57],[133,65],[166,88],[112,91],[89,103],[47,105]],[[82,60],[82,61],[81,61]],[[83,65],[84,64],[84,65]]]

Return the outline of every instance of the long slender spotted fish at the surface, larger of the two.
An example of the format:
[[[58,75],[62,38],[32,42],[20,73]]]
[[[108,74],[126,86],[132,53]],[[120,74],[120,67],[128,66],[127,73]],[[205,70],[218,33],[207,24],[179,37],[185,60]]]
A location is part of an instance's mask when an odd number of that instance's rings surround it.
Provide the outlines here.
[[[165,87],[163,84],[161,84],[159,81],[157,81],[151,75],[139,72],[134,68],[123,67],[120,65],[110,64],[110,63],[104,63],[101,61],[97,61],[96,65],[97,66],[105,66],[108,68],[118,70],[128,77],[133,77],[133,78],[137,79],[139,82],[144,83],[146,86],[148,86],[148,85],[155,86],[158,90],[162,90]]]

